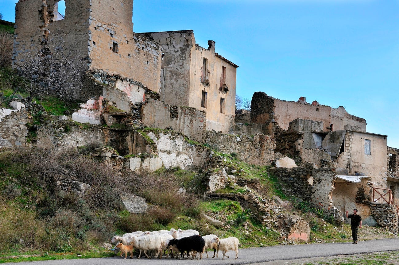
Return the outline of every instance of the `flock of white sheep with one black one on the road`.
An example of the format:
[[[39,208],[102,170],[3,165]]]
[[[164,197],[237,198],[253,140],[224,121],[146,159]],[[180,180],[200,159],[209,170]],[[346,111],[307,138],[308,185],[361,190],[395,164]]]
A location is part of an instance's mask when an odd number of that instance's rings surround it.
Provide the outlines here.
[[[131,257],[133,257],[133,249],[139,251],[138,259],[140,259],[142,252],[148,259],[152,255],[155,255],[155,258],[159,256],[161,259],[163,254],[165,254],[165,258],[169,254],[171,258],[176,255],[177,259],[177,253],[180,253],[180,259],[182,259],[185,252],[187,252],[187,257],[191,253],[191,259],[194,259],[197,254],[199,254],[197,259],[202,259],[202,253],[204,252],[206,253],[206,257],[208,257],[207,249],[213,249],[212,258],[215,257],[215,253],[216,257],[218,257],[219,250],[222,251],[222,259],[225,256],[229,257],[226,255],[227,251],[233,250],[235,251],[235,259],[237,259],[239,241],[234,237],[219,239],[215,235],[199,236],[198,231],[192,229],[175,230],[172,228],[170,231],[136,231],[124,234],[123,236],[114,236],[111,239],[111,243],[116,245],[115,254],[120,251],[120,257],[122,257],[122,254],[125,254],[125,259],[127,253],[131,253]],[[150,251],[150,256],[147,254],[147,251]]]

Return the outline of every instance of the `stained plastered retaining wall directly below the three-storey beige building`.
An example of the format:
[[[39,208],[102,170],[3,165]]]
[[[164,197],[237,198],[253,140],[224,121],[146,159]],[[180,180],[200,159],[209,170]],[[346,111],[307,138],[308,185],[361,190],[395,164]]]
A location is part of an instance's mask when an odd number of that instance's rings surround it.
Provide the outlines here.
[[[184,133],[190,139],[202,141],[206,113],[195,108],[171,106],[150,98],[142,108],[142,123],[152,128],[172,129]]]

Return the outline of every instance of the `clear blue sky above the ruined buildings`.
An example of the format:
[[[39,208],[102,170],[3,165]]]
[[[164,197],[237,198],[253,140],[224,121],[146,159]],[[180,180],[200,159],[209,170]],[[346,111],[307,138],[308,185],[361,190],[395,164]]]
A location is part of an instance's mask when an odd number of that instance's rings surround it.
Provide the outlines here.
[[[15,0],[0,0],[14,21]],[[398,0],[135,0],[135,32],[193,29],[239,65],[237,94],[317,100],[399,148]]]

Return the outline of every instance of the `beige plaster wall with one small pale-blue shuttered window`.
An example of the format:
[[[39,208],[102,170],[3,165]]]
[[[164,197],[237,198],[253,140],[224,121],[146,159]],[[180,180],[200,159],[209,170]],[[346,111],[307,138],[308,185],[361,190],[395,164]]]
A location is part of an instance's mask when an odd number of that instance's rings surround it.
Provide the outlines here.
[[[371,155],[365,155],[365,139],[371,140]],[[349,175],[362,173],[381,188],[387,187],[387,137],[372,133],[347,131],[344,152],[338,157],[337,167],[346,168]],[[389,188],[389,187],[388,187]]]

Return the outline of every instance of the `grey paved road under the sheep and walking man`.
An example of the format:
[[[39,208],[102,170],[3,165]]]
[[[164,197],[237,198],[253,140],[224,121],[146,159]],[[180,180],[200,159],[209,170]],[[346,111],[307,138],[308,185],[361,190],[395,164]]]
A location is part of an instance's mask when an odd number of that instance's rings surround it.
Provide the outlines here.
[[[235,260],[234,251],[229,251],[229,259],[208,258],[202,260],[176,260],[176,259],[122,259],[120,257],[96,258],[96,259],[75,259],[75,260],[53,260],[53,261],[35,261],[22,262],[18,264],[30,265],[115,265],[115,264],[129,264],[129,265],[164,265],[175,264],[180,265],[213,265],[213,264],[231,264],[244,265],[253,263],[264,263],[267,261],[287,261],[294,259],[303,259],[309,257],[328,257],[335,255],[351,255],[358,253],[370,253],[377,251],[399,251],[399,239],[375,239],[368,241],[359,241],[358,244],[352,243],[323,243],[323,244],[302,244],[302,245],[278,245],[273,247],[258,247],[249,249],[239,249],[238,259]],[[209,255],[209,253],[208,253]],[[213,251],[211,256],[213,255]],[[205,255],[206,257],[206,255]],[[15,263],[13,263],[15,264]]]

